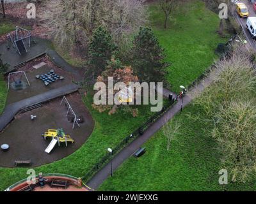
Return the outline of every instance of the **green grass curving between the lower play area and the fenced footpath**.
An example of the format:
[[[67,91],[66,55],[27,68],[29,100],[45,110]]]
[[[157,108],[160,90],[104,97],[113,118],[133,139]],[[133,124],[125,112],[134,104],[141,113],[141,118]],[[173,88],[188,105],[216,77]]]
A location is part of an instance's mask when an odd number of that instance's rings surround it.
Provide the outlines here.
[[[95,129],[90,138],[74,154],[55,163],[35,168],[36,173],[65,173],[82,177],[107,153],[108,147],[115,147],[152,115],[149,106],[140,106],[139,117],[136,118],[123,110],[111,116],[107,112],[99,113],[92,109],[90,95],[84,98],[84,103],[95,120]],[[0,190],[26,178],[28,176],[26,170],[26,168],[0,168]]]

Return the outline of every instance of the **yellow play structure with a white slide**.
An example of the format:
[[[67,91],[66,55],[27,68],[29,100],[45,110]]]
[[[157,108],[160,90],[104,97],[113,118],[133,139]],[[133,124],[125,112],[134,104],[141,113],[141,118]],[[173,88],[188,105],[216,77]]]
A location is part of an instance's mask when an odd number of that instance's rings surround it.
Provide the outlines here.
[[[48,154],[50,154],[57,142],[59,147],[61,142],[65,142],[66,147],[68,142],[75,142],[69,135],[65,135],[63,129],[48,129],[48,131],[45,132],[42,136],[44,136],[45,140],[46,138],[52,138],[51,143],[45,149],[45,152],[47,152]]]

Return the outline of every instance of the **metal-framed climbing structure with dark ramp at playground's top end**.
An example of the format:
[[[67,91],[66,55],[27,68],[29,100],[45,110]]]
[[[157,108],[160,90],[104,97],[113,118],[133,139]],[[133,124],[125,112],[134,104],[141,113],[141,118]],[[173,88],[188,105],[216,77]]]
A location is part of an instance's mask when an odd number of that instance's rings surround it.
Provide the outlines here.
[[[31,47],[31,32],[22,27],[16,26],[15,31],[7,34],[7,48],[12,45],[19,55],[24,55],[28,52],[25,42],[28,41],[28,46]]]

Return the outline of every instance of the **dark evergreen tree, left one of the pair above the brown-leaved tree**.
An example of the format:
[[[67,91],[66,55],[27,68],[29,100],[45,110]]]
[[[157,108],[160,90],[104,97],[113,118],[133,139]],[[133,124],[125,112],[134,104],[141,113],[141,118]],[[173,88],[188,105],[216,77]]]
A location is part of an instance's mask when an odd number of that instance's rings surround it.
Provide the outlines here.
[[[89,45],[89,63],[93,78],[97,78],[104,71],[116,48],[111,34],[104,27],[98,27],[93,33]]]

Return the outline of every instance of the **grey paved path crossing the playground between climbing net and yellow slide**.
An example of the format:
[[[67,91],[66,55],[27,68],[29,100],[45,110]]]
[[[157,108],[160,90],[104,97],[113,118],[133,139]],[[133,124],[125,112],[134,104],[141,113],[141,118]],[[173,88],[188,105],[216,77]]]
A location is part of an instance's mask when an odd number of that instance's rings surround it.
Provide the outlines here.
[[[60,96],[65,96],[77,91],[77,89],[78,86],[76,84],[68,84],[58,89],[53,89],[51,91],[44,92],[43,94],[39,94],[6,106],[3,114],[0,115],[0,132],[3,131],[6,126],[8,126],[8,124],[14,119],[15,115],[19,113],[20,110],[33,106],[37,103],[44,103]]]

